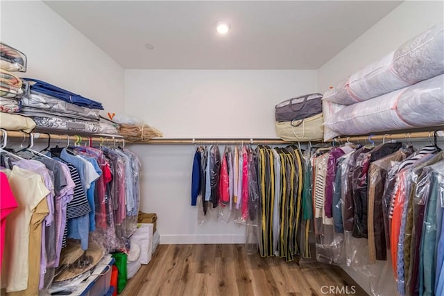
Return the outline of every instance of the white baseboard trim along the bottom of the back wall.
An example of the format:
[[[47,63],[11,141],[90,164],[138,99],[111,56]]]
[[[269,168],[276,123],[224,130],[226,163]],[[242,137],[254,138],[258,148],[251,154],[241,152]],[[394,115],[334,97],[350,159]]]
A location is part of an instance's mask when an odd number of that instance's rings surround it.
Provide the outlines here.
[[[161,234],[162,245],[245,243],[245,234]]]

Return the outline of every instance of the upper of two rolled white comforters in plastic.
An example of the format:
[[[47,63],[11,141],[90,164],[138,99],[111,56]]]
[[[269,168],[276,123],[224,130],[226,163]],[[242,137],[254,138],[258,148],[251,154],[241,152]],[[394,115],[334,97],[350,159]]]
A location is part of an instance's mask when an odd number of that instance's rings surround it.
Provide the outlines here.
[[[352,105],[444,73],[444,24],[413,37],[325,92],[324,101]]]

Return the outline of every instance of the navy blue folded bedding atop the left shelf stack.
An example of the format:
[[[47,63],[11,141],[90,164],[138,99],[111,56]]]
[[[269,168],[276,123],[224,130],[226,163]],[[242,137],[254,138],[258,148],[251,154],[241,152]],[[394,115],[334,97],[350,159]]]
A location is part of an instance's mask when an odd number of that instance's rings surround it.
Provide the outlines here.
[[[44,82],[42,80],[37,80],[33,78],[23,79],[29,82],[31,91],[40,92],[41,94],[47,94],[49,96],[53,96],[54,98],[59,98],[62,101],[78,106],[103,110],[103,106],[101,103],[80,96],[80,94],[74,94],[73,92],[69,92],[66,89],[56,87],[55,85],[51,85],[48,82]]]

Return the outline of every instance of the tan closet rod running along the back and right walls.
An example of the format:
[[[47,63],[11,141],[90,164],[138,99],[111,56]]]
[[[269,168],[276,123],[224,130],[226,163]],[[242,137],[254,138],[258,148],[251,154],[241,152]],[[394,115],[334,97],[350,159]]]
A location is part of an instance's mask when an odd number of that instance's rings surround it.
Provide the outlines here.
[[[380,140],[392,140],[392,139],[420,139],[420,138],[428,138],[433,139],[434,132],[407,132],[407,133],[400,133],[400,134],[370,134],[370,135],[361,135],[361,136],[353,136],[353,137],[337,137],[335,139],[331,139],[328,141],[325,141],[326,143],[332,143],[334,142],[345,142],[345,141],[380,141]],[[441,131],[442,132],[442,131]],[[307,143],[307,141],[301,141],[301,143]],[[254,138],[244,138],[244,139],[151,139],[147,141],[148,144],[160,144],[160,145],[169,145],[169,144],[237,144],[237,143],[244,143],[244,144],[289,144],[289,143],[298,143],[298,141],[284,141],[281,139],[254,139]],[[311,141],[311,143],[323,143],[323,141]]]

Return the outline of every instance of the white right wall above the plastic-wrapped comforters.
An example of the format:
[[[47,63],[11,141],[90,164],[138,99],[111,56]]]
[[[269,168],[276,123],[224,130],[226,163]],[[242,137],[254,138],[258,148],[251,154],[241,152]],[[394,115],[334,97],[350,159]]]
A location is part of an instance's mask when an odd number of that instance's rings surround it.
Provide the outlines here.
[[[348,45],[319,70],[319,91],[325,92],[370,62],[444,20],[444,1],[405,1]]]

